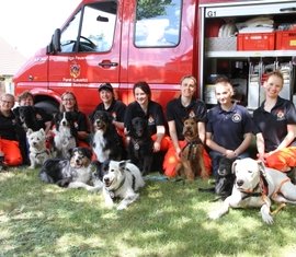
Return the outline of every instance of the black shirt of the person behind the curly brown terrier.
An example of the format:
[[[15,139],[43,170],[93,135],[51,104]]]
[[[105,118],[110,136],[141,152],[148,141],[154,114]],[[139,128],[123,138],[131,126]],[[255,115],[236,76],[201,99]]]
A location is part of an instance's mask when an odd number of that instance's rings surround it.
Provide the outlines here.
[[[167,120],[174,120],[178,140],[184,140],[183,120],[189,117],[196,117],[198,121],[206,122],[206,105],[201,100],[192,100],[190,105],[184,107],[181,97],[170,101],[167,105]]]

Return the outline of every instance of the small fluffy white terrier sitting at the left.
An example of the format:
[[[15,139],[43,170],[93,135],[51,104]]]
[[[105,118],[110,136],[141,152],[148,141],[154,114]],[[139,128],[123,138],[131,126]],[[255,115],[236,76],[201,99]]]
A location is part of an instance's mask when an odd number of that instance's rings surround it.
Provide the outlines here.
[[[29,143],[29,157],[31,165],[29,168],[35,168],[36,166],[43,165],[43,163],[52,157],[52,153],[46,149],[46,137],[44,129],[33,131],[31,128],[26,131],[26,139]]]

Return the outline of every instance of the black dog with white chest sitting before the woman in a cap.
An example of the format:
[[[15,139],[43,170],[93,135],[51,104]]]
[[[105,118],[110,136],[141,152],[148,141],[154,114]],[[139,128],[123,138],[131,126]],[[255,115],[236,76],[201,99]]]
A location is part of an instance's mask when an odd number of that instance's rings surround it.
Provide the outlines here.
[[[98,161],[103,163],[107,160],[123,160],[124,142],[113,124],[112,115],[104,110],[96,110],[92,122],[94,128],[92,149]]]

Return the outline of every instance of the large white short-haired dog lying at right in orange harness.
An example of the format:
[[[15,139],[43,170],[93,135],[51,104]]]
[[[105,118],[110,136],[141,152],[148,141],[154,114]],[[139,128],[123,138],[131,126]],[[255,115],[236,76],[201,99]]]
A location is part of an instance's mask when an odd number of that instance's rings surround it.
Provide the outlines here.
[[[232,172],[236,175],[232,194],[220,208],[208,214],[209,219],[220,218],[229,208],[261,207],[263,221],[272,224],[271,200],[296,205],[296,186],[286,174],[265,167],[261,161],[237,160],[232,164]]]

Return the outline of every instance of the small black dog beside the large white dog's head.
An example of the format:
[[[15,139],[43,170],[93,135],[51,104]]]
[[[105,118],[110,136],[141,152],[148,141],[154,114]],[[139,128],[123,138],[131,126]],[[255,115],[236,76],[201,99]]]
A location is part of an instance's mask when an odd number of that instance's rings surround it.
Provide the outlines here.
[[[226,199],[231,195],[234,183],[235,183],[235,174],[231,172],[232,163],[235,159],[228,159],[221,156],[219,160],[219,167],[217,171],[217,178],[215,184],[215,194],[221,197],[221,199]]]

